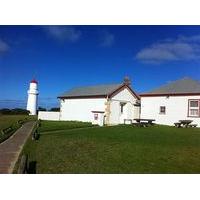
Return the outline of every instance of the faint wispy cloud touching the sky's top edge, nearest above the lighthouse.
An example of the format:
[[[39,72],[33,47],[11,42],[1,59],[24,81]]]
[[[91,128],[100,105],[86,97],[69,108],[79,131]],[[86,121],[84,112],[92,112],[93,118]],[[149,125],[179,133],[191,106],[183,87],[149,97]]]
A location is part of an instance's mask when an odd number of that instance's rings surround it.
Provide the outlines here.
[[[71,26],[47,26],[45,30],[57,40],[75,42],[80,39],[81,31]]]

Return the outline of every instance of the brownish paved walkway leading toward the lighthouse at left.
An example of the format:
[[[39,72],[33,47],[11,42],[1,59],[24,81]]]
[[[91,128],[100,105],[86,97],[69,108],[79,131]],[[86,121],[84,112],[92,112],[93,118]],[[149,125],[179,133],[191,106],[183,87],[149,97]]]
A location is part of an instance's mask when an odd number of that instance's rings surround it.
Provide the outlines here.
[[[36,122],[25,123],[9,139],[0,144],[0,174],[12,173],[22,147]]]

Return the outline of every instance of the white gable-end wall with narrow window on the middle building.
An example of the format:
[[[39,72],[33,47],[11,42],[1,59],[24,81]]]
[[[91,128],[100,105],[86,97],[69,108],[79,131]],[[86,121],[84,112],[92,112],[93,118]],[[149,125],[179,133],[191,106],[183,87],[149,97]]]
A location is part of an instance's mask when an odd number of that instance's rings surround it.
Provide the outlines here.
[[[124,119],[134,119],[135,116],[139,117],[139,110],[135,109],[134,106],[136,101],[137,98],[127,88],[124,88],[121,92],[113,96],[110,104],[110,124],[122,124],[124,123]],[[120,102],[126,103],[123,114],[121,114]]]

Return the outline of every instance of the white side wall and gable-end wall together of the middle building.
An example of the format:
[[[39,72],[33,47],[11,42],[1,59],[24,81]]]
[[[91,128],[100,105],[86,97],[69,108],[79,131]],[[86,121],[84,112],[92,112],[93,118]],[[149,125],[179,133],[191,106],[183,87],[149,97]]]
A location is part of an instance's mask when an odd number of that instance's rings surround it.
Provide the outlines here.
[[[111,98],[109,124],[124,123],[124,119],[134,119],[139,117],[139,110],[135,108],[136,97],[128,89]],[[60,100],[60,120],[77,120],[83,122],[94,122],[92,111],[103,111],[106,109],[106,98],[87,98],[87,99],[64,99]],[[123,116],[120,113],[120,102],[126,102]],[[102,122],[104,114],[99,120]],[[98,122],[100,123],[100,122]]]

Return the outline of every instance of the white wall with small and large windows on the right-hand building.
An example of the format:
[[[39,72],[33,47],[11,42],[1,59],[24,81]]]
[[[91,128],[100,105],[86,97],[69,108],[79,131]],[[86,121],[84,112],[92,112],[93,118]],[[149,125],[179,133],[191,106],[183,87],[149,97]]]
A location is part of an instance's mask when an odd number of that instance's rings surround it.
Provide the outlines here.
[[[200,118],[188,117],[188,99],[200,96],[141,97],[141,118],[155,119],[155,123],[174,125],[179,120],[193,120],[200,127]],[[160,114],[160,106],[166,107],[166,114]]]

